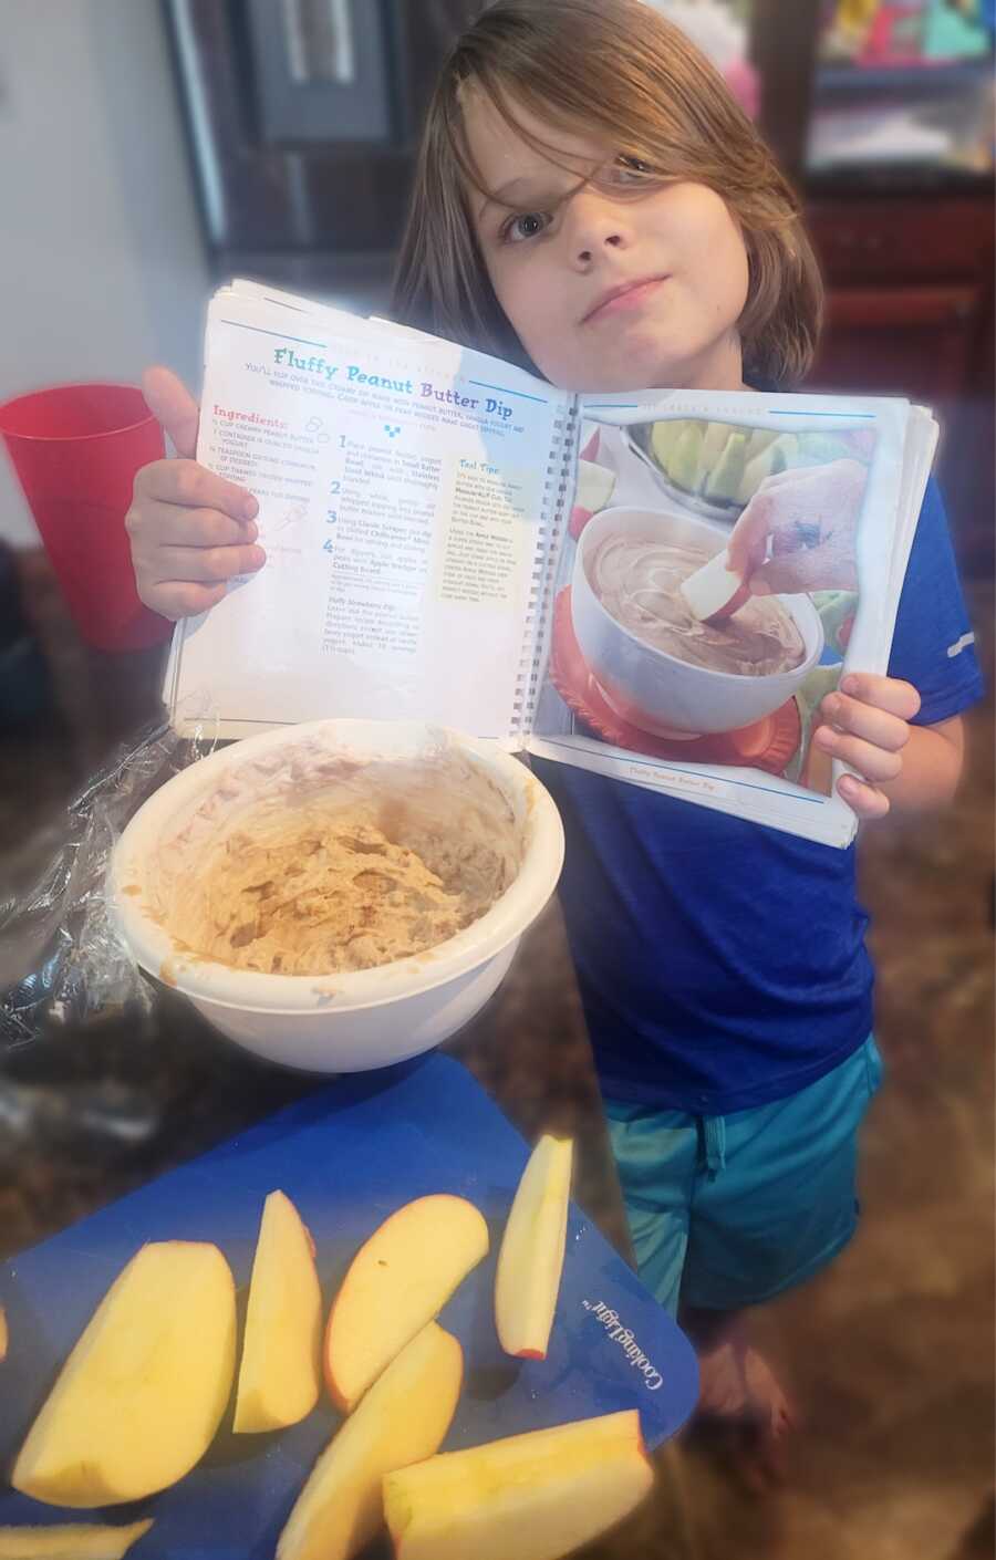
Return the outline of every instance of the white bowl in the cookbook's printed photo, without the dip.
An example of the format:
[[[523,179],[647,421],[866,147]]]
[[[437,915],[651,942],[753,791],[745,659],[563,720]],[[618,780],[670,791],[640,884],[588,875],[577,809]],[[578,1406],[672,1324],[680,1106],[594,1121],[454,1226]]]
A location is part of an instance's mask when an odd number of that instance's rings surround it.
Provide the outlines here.
[[[599,602],[587,563],[609,537],[660,537],[707,548],[712,555],[726,546],[729,530],[695,515],[649,509],[606,509],[584,527],[571,577],[571,619],[581,654],[626,719],[663,736],[735,732],[773,714],[806,682],[823,654],[823,622],[809,596],[779,596],[802,635],[799,666],[767,677],[692,666],[639,640]]]

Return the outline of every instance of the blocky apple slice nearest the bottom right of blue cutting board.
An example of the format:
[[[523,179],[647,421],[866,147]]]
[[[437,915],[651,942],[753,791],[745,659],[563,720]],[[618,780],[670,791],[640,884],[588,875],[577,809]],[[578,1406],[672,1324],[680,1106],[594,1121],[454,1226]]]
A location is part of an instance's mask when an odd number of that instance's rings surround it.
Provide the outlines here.
[[[628,1516],[654,1471],[635,1409],[387,1474],[397,1560],[559,1560]]]

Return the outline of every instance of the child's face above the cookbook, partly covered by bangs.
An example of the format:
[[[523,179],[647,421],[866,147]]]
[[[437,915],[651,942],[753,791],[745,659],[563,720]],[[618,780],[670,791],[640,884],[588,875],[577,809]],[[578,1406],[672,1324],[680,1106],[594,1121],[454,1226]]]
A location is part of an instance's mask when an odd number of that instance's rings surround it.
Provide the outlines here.
[[[564,200],[576,175],[532,150],[481,94],[467,92],[464,112],[484,184],[512,207],[470,192],[492,285],[551,384],[742,388],[737,320],[748,257],[713,190],[674,183],[637,197],[614,148],[553,129],[517,106],[523,126],[565,162],[609,170]]]

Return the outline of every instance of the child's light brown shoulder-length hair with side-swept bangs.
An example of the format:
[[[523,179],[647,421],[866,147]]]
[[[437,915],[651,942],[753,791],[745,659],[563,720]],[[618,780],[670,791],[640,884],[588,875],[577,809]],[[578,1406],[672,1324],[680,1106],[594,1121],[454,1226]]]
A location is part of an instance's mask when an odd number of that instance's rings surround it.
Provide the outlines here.
[[[461,94],[515,120],[521,105],[715,190],[749,262],[738,321],[745,376],[791,385],[815,351],[823,284],[798,200],[703,53],[643,0],[495,0],[450,50],[429,105],[395,275],[397,320],[532,368],[492,290],[468,190],[481,189]],[[486,192],[490,193],[490,192]]]

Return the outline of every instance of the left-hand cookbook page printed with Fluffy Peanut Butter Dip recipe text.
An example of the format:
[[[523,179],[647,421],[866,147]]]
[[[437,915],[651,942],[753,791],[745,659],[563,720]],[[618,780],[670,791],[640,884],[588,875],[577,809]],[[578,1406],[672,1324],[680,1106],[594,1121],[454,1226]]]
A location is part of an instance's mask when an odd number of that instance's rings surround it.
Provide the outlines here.
[[[507,363],[223,289],[198,460],[256,495],[267,563],[178,629],[175,724],[362,713],[510,739],[570,421],[570,398]]]

